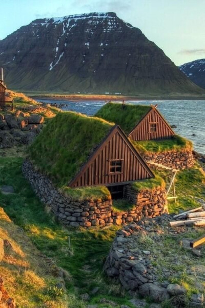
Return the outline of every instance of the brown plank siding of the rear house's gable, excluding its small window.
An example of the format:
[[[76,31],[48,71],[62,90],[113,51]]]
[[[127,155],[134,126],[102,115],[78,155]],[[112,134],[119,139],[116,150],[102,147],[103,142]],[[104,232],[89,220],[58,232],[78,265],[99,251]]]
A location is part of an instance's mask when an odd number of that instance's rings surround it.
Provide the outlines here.
[[[149,131],[150,123],[157,123],[156,132]],[[173,136],[173,130],[155,108],[149,111],[145,118],[129,134],[129,137],[136,141],[171,139]]]

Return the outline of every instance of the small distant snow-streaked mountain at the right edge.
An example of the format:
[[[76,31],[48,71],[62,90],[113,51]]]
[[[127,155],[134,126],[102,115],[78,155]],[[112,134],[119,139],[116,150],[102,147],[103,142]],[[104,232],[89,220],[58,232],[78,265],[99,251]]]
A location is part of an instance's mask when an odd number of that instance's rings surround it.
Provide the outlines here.
[[[197,86],[205,89],[205,59],[185,63],[179,69]]]

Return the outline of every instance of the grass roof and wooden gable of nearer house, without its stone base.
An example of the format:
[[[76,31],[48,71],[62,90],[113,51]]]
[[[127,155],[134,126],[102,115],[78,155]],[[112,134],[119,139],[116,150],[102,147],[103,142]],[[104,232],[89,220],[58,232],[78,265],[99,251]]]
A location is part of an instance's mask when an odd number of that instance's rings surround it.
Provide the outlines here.
[[[154,175],[118,125],[75,112],[52,119],[30,159],[59,186],[114,186]]]

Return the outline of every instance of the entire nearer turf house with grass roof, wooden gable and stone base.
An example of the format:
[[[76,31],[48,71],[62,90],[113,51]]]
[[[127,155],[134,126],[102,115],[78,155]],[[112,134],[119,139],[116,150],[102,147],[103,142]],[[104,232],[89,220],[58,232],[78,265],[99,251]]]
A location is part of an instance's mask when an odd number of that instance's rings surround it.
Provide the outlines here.
[[[165,207],[163,181],[124,131],[103,119],[58,113],[30,146],[22,169],[42,202],[66,225],[120,225],[160,215]],[[154,201],[155,191],[159,198]],[[132,208],[114,208],[118,198],[129,200]]]

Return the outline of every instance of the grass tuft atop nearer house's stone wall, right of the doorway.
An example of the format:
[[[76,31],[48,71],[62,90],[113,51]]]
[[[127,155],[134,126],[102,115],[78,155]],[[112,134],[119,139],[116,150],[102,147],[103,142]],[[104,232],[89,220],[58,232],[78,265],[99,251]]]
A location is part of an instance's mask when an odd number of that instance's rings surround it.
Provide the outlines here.
[[[132,188],[136,191],[154,189],[157,187],[165,188],[165,181],[155,172],[155,177],[148,180],[137,181],[131,184]]]

